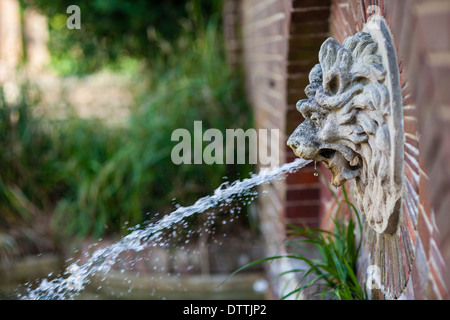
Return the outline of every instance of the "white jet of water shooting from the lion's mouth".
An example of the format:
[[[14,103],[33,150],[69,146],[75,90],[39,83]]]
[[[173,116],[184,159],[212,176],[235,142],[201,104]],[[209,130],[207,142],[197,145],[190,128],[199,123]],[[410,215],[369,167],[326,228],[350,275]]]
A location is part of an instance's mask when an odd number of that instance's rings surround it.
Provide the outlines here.
[[[165,229],[183,219],[205,212],[222,202],[229,204],[235,196],[272,180],[280,180],[284,174],[293,173],[310,162],[310,160],[298,158],[281,167],[262,169],[258,174],[253,174],[250,178],[242,181],[235,181],[231,184],[225,182],[215,190],[214,194],[198,199],[193,205],[179,207],[158,222],[144,228],[140,228],[140,226],[133,228],[132,232],[121,240],[106,248],[96,250],[83,265],[79,266],[77,262],[74,262],[66,268],[62,275],[53,280],[42,280],[35,289],[31,289],[31,284],[28,284],[27,293],[19,295],[19,298],[30,300],[73,299],[89,283],[91,276],[97,273],[108,273],[122,252],[127,250],[139,252],[147,247],[149,241],[157,241]]]

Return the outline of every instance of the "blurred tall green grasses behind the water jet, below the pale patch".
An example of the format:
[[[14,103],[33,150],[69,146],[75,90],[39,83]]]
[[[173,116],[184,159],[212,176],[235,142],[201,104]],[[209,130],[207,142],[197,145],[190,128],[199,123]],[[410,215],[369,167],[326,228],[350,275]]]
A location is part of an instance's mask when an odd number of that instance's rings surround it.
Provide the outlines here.
[[[226,63],[217,21],[166,46],[170,55],[155,57],[148,74],[135,75],[139,84],[149,85],[124,123],[36,117],[36,102],[26,100],[26,90],[20,105],[2,102],[0,196],[9,200],[1,203],[0,229],[8,230],[18,217],[31,219],[17,194],[41,211],[54,212],[57,233],[100,237],[126,232],[126,224],[151,218],[146,212],[171,211],[174,198],[189,205],[211,193],[224,176],[233,180],[248,174],[249,165],[172,163],[175,129],[186,128],[194,136],[196,120],[203,121],[204,130],[223,132],[252,123],[241,77]],[[124,61],[134,65],[135,60]]]

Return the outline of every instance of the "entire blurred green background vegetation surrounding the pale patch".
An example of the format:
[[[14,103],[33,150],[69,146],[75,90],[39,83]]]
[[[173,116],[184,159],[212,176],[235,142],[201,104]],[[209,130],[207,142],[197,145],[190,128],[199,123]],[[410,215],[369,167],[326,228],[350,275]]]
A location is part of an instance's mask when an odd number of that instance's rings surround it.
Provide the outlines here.
[[[66,28],[72,4],[81,8],[81,30]],[[144,89],[130,115],[111,125],[39,116],[30,86],[22,85],[17,103],[0,88],[0,259],[126,233],[125,226],[248,175],[248,165],[177,166],[170,158],[173,130],[193,132],[195,120],[203,130],[252,126],[241,77],[226,63],[221,1],[23,0],[27,5],[48,17],[50,68],[59,76],[109,68],[131,72]]]

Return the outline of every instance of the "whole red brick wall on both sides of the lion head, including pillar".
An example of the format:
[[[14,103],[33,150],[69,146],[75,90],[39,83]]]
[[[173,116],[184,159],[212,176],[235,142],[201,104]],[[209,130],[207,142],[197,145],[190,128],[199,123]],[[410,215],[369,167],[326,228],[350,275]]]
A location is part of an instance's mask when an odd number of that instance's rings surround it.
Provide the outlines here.
[[[238,3],[247,90],[257,128],[279,128],[282,161],[294,154],[285,141],[303,120],[310,69],[329,36],[342,42],[363,29],[379,8],[397,49],[404,114],[404,197],[399,232],[363,231],[361,281],[371,265],[384,288],[373,298],[449,298],[450,273],[450,1],[448,0],[229,0]],[[371,7],[370,6],[377,6]],[[235,20],[236,21],[236,20]],[[284,238],[282,221],[327,227],[336,209],[329,173],[313,165],[265,187],[259,203],[263,231]],[[351,190],[352,184],[347,188]]]

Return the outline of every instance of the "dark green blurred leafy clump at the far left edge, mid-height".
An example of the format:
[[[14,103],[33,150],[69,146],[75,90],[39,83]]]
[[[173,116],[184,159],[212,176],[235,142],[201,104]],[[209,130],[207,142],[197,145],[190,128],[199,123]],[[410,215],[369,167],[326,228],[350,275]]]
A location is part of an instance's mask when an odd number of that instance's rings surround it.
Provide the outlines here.
[[[51,179],[54,177],[51,140],[28,107],[33,103],[25,95],[17,103],[7,103],[0,87],[0,221],[4,224],[12,211],[18,212],[23,220],[29,218],[26,205],[19,201],[18,190],[27,201],[43,208],[46,205],[43,195],[56,183]]]

